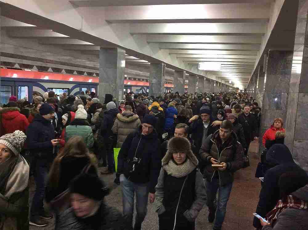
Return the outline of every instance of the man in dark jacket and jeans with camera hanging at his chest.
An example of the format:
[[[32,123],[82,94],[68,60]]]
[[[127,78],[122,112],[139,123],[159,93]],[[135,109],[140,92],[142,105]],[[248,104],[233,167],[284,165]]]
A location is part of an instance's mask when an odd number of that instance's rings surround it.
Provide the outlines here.
[[[118,173],[123,192],[123,216],[128,229],[132,227],[134,194],[136,193],[136,222],[141,229],[147,214],[148,200],[155,200],[155,186],[160,172],[160,141],[155,130],[156,118],[145,115],[137,131],[129,134],[118,156]]]

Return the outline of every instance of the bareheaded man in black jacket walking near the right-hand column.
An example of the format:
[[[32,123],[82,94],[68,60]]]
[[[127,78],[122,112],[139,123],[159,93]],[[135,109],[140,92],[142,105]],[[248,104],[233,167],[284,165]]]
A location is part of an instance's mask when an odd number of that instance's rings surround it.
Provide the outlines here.
[[[250,142],[258,139],[257,119],[250,113],[250,105],[244,106],[244,113],[238,116],[238,123],[243,127],[245,139],[246,139],[246,150],[245,155],[247,156]]]

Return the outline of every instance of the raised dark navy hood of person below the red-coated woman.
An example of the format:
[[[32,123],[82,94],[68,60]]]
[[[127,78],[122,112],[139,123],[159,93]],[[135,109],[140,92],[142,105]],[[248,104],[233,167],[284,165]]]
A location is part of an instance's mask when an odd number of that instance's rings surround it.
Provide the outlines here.
[[[294,163],[289,148],[284,144],[274,144],[266,153],[266,161],[275,165]]]

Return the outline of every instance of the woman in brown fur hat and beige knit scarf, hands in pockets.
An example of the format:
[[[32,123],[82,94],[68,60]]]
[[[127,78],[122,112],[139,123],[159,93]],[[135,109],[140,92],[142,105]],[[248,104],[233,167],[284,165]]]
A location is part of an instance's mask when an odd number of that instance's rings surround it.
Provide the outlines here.
[[[188,139],[173,137],[162,159],[155,187],[159,229],[195,229],[195,220],[206,201],[198,160]]]

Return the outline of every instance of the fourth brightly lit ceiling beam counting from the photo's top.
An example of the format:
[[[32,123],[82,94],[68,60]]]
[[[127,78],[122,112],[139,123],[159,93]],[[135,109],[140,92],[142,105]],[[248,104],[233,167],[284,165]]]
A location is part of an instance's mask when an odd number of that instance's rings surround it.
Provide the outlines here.
[[[254,50],[258,51],[259,45],[222,45],[222,44],[173,44],[160,43],[160,49],[164,50]]]

